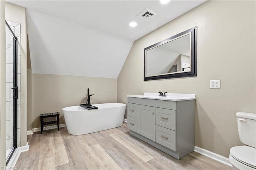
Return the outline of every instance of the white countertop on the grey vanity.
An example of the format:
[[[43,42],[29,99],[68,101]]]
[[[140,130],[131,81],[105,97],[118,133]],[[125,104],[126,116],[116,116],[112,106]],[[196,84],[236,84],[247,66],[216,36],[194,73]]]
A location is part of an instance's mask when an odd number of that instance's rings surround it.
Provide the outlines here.
[[[165,97],[159,96],[159,93],[144,93],[144,95],[128,95],[127,97],[166,100],[166,101],[196,100],[195,94],[182,94],[182,93],[165,93],[165,94],[166,94]]]

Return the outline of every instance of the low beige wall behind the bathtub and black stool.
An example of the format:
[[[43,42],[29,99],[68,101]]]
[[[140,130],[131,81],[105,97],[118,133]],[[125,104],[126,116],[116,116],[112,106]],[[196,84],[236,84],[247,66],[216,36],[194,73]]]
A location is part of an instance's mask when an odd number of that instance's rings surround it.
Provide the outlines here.
[[[117,79],[32,74],[32,122],[28,124],[40,127],[40,113],[52,112],[60,112],[60,124],[64,123],[62,108],[86,103],[88,88],[94,94],[92,105],[117,101]]]

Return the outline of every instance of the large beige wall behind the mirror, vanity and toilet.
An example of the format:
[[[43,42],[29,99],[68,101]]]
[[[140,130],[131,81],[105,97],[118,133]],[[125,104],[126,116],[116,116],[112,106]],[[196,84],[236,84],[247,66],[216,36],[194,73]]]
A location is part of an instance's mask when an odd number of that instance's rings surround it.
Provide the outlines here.
[[[207,1],[136,40],[118,77],[118,102],[144,92],[196,94],[196,146],[228,157],[236,112],[256,112],[255,1]],[[144,48],[198,26],[198,76],[143,81]],[[220,79],[220,89],[209,89]]]

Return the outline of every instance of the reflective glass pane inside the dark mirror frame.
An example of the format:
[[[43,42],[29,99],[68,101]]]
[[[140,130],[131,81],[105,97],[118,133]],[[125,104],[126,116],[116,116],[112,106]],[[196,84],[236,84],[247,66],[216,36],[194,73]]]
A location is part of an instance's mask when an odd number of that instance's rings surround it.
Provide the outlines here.
[[[190,34],[146,51],[146,76],[190,71]]]

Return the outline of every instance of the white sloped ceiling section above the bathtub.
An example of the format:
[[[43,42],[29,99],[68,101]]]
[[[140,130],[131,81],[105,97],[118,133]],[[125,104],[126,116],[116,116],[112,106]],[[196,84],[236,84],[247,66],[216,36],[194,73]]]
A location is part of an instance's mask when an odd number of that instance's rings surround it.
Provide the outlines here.
[[[32,73],[117,78],[133,41],[27,10]]]

